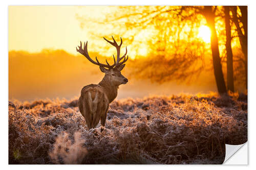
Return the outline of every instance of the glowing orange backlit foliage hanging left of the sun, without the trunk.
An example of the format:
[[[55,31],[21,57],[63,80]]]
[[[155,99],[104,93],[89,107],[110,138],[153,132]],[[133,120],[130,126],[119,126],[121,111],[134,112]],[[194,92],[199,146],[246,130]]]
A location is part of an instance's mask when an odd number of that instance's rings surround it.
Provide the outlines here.
[[[148,55],[140,59],[141,62],[137,61],[133,75],[158,83],[189,81],[192,77],[197,78],[207,66],[207,50],[204,42],[197,38],[201,18],[195,13],[188,13],[178,6],[120,7],[120,11],[114,17],[113,14],[106,16],[104,23],[111,23],[118,34],[127,37],[125,42],[142,43],[134,40],[136,35],[144,30],[154,30],[154,38],[142,38],[147,39]]]

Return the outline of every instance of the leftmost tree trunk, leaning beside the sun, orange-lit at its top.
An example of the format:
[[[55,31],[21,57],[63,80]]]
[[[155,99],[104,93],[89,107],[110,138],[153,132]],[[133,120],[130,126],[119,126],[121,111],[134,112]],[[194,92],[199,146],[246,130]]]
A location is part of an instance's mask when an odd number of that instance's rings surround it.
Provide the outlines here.
[[[212,53],[212,61],[214,64],[214,75],[220,94],[226,93],[226,85],[223,77],[221,59],[219,53],[218,37],[215,29],[215,12],[212,11],[212,6],[205,6],[202,13],[207,21],[207,25],[211,30],[210,45]]]

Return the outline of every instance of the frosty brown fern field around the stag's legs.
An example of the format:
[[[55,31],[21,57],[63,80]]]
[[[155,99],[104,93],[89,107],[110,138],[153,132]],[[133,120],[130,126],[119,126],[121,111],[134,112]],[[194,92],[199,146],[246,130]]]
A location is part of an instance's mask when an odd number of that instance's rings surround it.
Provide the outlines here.
[[[77,99],[9,102],[9,164],[221,164],[247,141],[247,95],[115,100],[104,130]]]

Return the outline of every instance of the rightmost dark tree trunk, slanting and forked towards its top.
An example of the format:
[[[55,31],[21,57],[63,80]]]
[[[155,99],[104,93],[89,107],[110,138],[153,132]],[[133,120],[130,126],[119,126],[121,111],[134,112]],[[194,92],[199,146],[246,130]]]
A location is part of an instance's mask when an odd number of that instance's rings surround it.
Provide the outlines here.
[[[248,52],[247,52],[247,47],[248,47],[248,42],[247,42],[247,6],[240,6],[239,7],[241,10],[241,20],[239,20],[238,18],[238,14],[237,14],[237,7],[232,7],[231,8],[231,12],[232,12],[232,16],[233,16],[233,22],[234,25],[236,25],[237,27],[237,31],[238,31],[238,36],[239,36],[239,42],[241,44],[241,48],[242,48],[242,52],[244,54],[244,58],[245,58],[245,82],[246,82],[246,89],[247,89],[247,67],[248,67]],[[243,23],[243,29],[244,29],[244,34],[242,32],[242,28],[240,28],[239,25],[239,21],[241,21]]]

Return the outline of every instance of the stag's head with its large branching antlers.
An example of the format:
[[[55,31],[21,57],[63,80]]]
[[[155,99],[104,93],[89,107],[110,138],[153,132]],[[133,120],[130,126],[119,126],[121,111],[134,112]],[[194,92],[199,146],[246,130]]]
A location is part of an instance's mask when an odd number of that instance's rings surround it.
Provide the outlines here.
[[[112,36],[112,38],[113,38],[113,36]],[[106,40],[111,45],[116,47],[117,59],[115,59],[115,56],[113,55],[113,58],[114,58],[114,64],[113,65],[110,65],[107,60],[106,60],[106,64],[102,64],[98,61],[97,57],[96,57],[96,61],[92,60],[91,57],[88,54],[88,51],[87,51],[88,41],[86,43],[84,42],[83,48],[82,48],[82,42],[81,41],[80,41],[80,46],[78,46],[79,49],[77,49],[77,47],[76,47],[77,52],[82,54],[84,57],[86,57],[93,64],[99,65],[100,70],[102,72],[104,72],[104,74],[105,74],[103,79],[105,79],[107,82],[109,82],[111,85],[114,85],[114,86],[119,86],[121,84],[126,84],[128,82],[128,79],[126,79],[121,74],[121,70],[125,66],[124,63],[128,60],[128,56],[126,57],[127,47],[125,47],[125,50],[126,50],[125,54],[120,58],[120,48],[121,48],[121,45],[122,45],[122,38],[120,37],[120,39],[121,39],[121,43],[118,45],[114,38],[113,38],[114,42],[111,42],[111,41],[104,38],[104,40]]]

